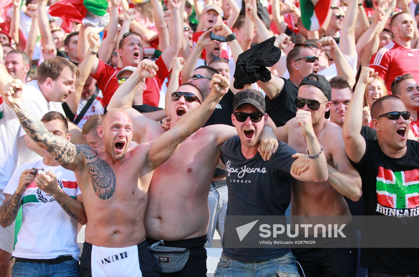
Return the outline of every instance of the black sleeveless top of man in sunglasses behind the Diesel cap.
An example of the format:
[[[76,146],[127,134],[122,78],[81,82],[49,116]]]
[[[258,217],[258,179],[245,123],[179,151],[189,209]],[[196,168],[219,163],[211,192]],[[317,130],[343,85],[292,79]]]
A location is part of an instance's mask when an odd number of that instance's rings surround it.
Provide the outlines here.
[[[297,98],[297,94],[298,87],[289,79],[284,79],[284,87],[276,98],[271,100],[265,96],[266,113],[277,127],[284,126],[291,118],[295,117],[297,107],[295,107],[294,100]]]

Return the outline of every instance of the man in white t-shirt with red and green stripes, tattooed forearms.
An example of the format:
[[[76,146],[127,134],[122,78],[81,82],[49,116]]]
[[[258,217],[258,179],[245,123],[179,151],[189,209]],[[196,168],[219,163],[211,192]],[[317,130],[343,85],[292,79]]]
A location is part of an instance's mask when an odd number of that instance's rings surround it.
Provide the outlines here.
[[[50,111],[41,121],[49,133],[70,141],[62,113]],[[49,267],[51,277],[76,277],[80,255],[77,223],[87,222],[82,195],[74,172],[60,167],[49,152],[44,152],[44,159],[16,168],[3,192],[1,226],[12,224],[22,206],[12,275],[25,276],[30,270],[32,276],[40,276],[42,268]]]

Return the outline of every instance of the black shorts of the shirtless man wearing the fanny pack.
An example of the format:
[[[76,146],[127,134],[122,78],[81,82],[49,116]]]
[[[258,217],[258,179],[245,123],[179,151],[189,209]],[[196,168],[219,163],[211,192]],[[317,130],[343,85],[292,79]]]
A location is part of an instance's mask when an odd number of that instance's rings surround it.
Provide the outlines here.
[[[152,245],[158,240],[145,238],[148,245]],[[182,247],[189,249],[189,259],[185,267],[179,272],[162,273],[161,276],[170,277],[206,277],[207,276],[207,250],[205,243],[207,242],[207,235],[192,238],[182,239],[179,241],[164,241],[164,246]]]

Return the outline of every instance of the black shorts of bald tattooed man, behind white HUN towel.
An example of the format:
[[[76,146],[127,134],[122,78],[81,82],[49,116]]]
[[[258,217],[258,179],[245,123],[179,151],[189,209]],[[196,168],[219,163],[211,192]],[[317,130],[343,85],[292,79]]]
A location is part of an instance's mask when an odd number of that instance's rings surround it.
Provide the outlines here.
[[[88,242],[83,243],[83,251],[80,257],[80,277],[91,277],[92,276],[92,248],[93,246]],[[144,277],[160,277],[161,269],[151,254],[150,249],[147,247],[147,242],[143,241],[137,244],[138,249],[138,263],[140,264],[141,274]],[[118,251],[117,251],[118,252]],[[125,252],[126,253],[126,252]],[[115,253],[117,255],[110,256],[109,259],[103,259],[105,262],[109,262],[110,264],[117,260],[121,260],[124,258],[124,254]],[[119,255],[118,255],[119,254]],[[107,256],[107,255],[106,255]],[[103,264],[102,261],[102,264]],[[117,264],[115,266],[118,266]],[[120,268],[121,273],[124,272],[124,268]],[[94,270],[93,270],[94,271]],[[93,272],[94,274],[95,272]],[[126,272],[124,272],[126,273]],[[122,276],[118,274],[113,274],[114,276]],[[125,275],[124,275],[125,276]],[[109,276],[111,277],[111,276]]]

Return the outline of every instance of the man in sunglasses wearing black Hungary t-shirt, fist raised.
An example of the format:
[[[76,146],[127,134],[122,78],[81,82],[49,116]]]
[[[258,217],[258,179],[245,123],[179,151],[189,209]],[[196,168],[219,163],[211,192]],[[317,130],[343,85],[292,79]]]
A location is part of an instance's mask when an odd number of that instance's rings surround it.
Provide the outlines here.
[[[417,174],[412,173],[419,169],[419,144],[407,139],[410,113],[396,95],[381,97],[371,106],[377,139],[366,141],[360,135],[365,88],[377,74],[372,68],[361,70],[343,126],[345,150],[361,174],[364,214],[390,216],[392,223],[401,228],[409,226],[407,219],[418,219],[419,204],[414,199],[419,193],[419,182]],[[417,229],[413,232],[403,229],[396,234],[388,230],[387,224],[377,225],[367,220],[361,242],[369,237],[386,242],[395,236],[416,241]],[[369,277],[417,277],[418,260],[416,248],[361,248],[361,265],[368,269]]]

